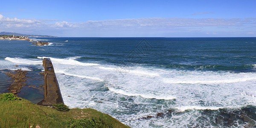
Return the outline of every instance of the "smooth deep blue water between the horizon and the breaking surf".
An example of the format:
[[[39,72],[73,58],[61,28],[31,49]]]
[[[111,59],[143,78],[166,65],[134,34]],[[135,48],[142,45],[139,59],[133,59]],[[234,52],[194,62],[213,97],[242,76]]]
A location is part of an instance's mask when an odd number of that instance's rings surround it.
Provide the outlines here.
[[[38,50],[42,47],[28,47],[27,41],[1,42],[0,58],[37,58],[51,56],[66,58],[82,56],[80,61],[101,63],[132,63],[127,56],[145,39],[151,46],[148,53],[135,51],[135,64],[148,66],[182,68],[190,70],[209,66],[201,70],[229,70],[253,72],[251,64],[256,61],[256,38],[38,38],[49,42],[63,43]],[[64,42],[69,40],[68,42]],[[12,53],[12,54],[10,54]],[[133,64],[133,63],[132,63]]]

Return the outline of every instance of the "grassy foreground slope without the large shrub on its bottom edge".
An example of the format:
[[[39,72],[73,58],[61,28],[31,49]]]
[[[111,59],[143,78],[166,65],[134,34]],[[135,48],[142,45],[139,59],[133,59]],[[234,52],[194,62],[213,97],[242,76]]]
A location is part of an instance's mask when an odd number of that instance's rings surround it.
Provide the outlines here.
[[[29,122],[35,128],[66,128],[67,121],[73,119],[89,119],[93,116],[101,117],[113,124],[116,128],[129,128],[118,120],[98,112],[91,108],[70,109],[68,112],[57,111],[52,108],[35,105],[32,102],[21,99],[15,101],[5,101],[0,94],[0,128],[29,128]]]

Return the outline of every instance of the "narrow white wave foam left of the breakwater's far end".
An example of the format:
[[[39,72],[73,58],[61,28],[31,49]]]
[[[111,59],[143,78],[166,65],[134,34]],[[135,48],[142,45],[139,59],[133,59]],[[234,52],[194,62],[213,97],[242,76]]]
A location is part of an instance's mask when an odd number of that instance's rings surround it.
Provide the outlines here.
[[[19,64],[42,64],[42,61],[39,59],[24,59],[24,58],[6,57],[5,60],[11,61],[13,63],[19,63]]]

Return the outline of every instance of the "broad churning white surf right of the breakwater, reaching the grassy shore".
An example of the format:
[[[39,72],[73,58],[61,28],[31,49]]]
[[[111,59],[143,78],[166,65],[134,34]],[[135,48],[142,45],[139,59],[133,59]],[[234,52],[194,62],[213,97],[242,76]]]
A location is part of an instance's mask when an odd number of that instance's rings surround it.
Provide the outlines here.
[[[46,57],[38,57],[40,63],[42,58]],[[200,116],[196,110],[256,105],[253,72],[188,71],[143,65],[125,68],[79,62],[77,58],[81,57],[50,58],[64,103],[70,108],[90,107],[108,113],[131,127],[177,127],[189,124],[191,119],[196,122],[198,118],[192,117]],[[139,120],[172,108],[192,112],[176,115],[178,121]]]

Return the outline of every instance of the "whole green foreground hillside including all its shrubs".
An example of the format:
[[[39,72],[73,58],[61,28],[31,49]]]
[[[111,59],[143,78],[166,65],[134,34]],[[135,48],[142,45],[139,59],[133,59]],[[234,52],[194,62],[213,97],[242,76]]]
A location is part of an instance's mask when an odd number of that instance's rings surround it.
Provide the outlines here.
[[[4,96],[5,95],[5,96]],[[0,94],[0,128],[129,128],[91,108],[57,111],[32,102]],[[7,97],[8,96],[8,97]]]

